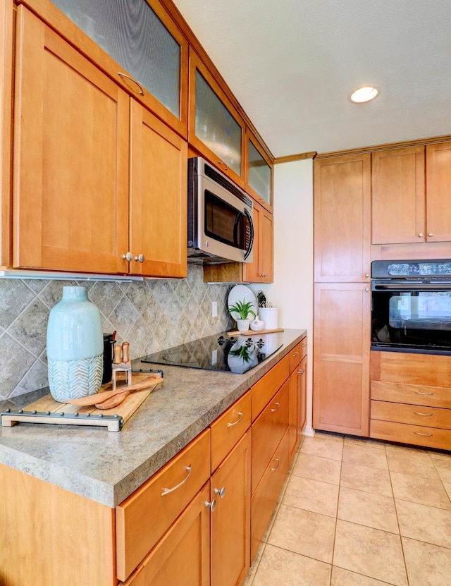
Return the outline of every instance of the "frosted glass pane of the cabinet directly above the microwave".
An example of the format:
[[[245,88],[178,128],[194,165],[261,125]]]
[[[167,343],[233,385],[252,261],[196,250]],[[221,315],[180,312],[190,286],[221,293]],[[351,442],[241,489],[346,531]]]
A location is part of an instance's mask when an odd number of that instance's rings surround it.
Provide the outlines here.
[[[196,70],[195,134],[242,177],[241,126]]]

